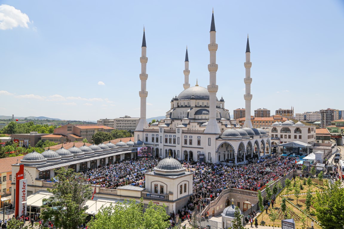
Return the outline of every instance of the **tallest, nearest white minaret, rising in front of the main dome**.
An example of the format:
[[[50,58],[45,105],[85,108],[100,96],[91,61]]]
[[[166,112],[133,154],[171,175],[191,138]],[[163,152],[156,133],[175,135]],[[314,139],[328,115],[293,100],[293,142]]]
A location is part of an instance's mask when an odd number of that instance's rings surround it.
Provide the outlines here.
[[[208,65],[209,70],[209,121],[207,127],[204,130],[204,133],[207,134],[220,134],[220,128],[217,125],[216,121],[216,92],[218,86],[216,85],[216,31],[215,31],[215,22],[214,22],[214,10],[212,15],[212,23],[210,26],[210,44],[208,44],[208,50],[210,52],[210,64]]]

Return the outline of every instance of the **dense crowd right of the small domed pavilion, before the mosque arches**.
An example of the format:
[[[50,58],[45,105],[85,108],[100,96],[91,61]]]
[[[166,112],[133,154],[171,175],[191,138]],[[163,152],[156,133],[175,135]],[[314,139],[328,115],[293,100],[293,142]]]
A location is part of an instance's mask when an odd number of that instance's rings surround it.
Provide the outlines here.
[[[183,164],[187,170],[194,172],[193,188],[203,198],[211,199],[226,188],[260,190],[268,182],[283,177],[296,166],[295,158],[283,156],[272,156],[255,163],[234,166],[186,161]]]

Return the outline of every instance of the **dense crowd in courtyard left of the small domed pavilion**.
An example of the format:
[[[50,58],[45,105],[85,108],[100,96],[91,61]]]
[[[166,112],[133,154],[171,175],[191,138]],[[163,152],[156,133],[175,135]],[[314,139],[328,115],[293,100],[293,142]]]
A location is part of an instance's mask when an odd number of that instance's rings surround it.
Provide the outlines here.
[[[89,184],[101,185],[104,188],[114,189],[126,184],[144,187],[144,173],[153,171],[158,162],[157,159],[141,158],[80,173]]]

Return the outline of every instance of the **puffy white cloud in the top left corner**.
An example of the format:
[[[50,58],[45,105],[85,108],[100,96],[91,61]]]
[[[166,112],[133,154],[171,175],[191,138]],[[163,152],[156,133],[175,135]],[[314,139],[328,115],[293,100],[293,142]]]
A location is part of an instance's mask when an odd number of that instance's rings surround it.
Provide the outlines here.
[[[0,5],[0,30],[12,30],[15,27],[29,28],[29,16],[11,5]]]

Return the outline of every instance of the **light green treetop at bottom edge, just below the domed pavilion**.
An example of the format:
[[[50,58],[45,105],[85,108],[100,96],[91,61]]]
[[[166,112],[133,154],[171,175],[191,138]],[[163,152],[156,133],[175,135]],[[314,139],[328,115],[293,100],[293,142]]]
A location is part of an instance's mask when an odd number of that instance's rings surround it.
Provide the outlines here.
[[[156,205],[152,201],[143,214],[143,222],[140,228],[165,229],[169,227],[169,215],[166,214],[166,205]]]

